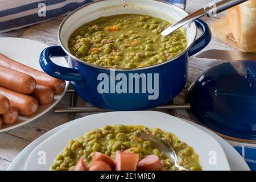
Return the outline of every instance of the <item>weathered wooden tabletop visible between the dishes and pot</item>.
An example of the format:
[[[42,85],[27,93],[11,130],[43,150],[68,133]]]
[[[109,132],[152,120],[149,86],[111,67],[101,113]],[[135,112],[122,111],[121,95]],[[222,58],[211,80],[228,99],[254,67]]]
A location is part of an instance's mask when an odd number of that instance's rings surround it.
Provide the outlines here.
[[[187,11],[191,13],[196,9],[199,9],[203,3],[208,2],[208,0],[193,0],[188,1]],[[202,18],[210,24],[218,19],[225,16],[225,13],[219,14],[214,18]],[[19,37],[19,38],[27,38],[32,40],[37,40],[42,43],[46,43],[49,46],[58,45],[59,42],[57,40],[57,30],[59,25],[64,17],[56,18],[49,22],[36,24],[34,26],[30,26],[27,28],[23,28],[22,30],[12,31],[0,34],[1,36],[11,36],[11,37]],[[1,43],[0,43],[1,44]],[[209,46],[206,49],[233,49],[226,44],[218,41],[213,38],[212,42],[210,42]],[[193,81],[206,69],[213,67],[213,65],[219,64],[220,61],[216,60],[203,60],[197,59],[195,56],[191,57],[189,60],[189,71],[188,71],[188,86],[192,84]],[[177,104],[182,104],[185,102],[185,94],[187,90],[183,90],[182,93],[176,98]],[[70,94],[65,94],[63,100],[59,102],[56,107],[68,107],[69,106],[69,97]],[[77,99],[77,106],[85,106],[86,102],[82,101],[81,98]],[[85,115],[89,115],[92,113],[86,114],[75,114],[75,118],[84,117]],[[187,110],[177,110],[177,117],[184,118],[192,121]],[[55,114],[53,109],[49,111],[47,114],[42,117],[36,119],[35,121],[28,123],[18,129],[6,131],[0,133],[0,170],[6,170],[10,163],[14,160],[16,155],[19,154],[20,151],[23,150],[28,144],[30,144],[33,140],[40,137],[47,131],[62,125],[63,123],[68,122],[69,115],[68,114]]]

